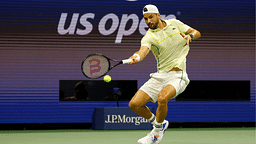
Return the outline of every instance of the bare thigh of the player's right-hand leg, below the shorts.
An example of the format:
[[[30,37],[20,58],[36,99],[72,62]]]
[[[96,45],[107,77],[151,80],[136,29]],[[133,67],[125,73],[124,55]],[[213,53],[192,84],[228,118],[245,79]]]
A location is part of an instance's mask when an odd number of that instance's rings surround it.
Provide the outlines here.
[[[158,94],[157,100],[159,103],[168,103],[169,100],[176,95],[176,89],[171,84],[167,84]]]

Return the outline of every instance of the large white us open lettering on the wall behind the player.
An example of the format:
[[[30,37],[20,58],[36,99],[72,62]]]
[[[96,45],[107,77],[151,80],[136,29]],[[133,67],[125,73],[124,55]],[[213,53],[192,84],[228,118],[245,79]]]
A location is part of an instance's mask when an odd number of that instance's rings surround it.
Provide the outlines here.
[[[176,16],[173,14],[170,15],[161,15],[163,19],[175,19]],[[85,13],[80,16],[79,13],[73,13],[72,19],[70,22],[67,22],[68,13],[61,13],[60,20],[58,24],[58,33],[60,35],[88,35],[94,29],[94,25],[90,22],[95,18],[94,13]],[[91,19],[90,21],[88,21]],[[109,29],[106,29],[107,21],[111,20],[112,24]],[[128,26],[128,21],[132,21]],[[121,20],[114,13],[109,13],[103,16],[98,23],[98,32],[101,35],[107,36],[111,35],[117,31],[115,43],[122,43],[124,36],[132,35],[137,29],[141,35],[145,35],[148,28],[145,23],[144,18],[139,20],[139,17],[136,14],[123,14]],[[68,25],[69,24],[69,25]],[[77,28],[77,25],[80,24],[83,28]]]

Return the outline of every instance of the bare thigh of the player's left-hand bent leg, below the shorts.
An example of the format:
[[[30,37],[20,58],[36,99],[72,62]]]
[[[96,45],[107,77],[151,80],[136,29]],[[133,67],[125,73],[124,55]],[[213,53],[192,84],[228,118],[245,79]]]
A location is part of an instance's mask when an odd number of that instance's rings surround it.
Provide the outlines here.
[[[131,99],[129,106],[135,106],[135,107],[139,107],[139,106],[144,106],[146,103],[152,101],[152,98],[149,97],[149,95],[147,93],[145,93],[142,90],[138,90],[136,92],[136,94],[133,96],[133,98]]]

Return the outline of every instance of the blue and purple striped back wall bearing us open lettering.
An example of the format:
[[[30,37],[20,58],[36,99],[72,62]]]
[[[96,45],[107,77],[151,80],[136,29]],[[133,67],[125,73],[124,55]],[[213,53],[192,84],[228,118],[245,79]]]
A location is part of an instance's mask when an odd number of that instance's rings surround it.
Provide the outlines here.
[[[0,2],[0,123],[90,123],[95,107],[115,107],[115,102],[60,102],[59,80],[87,80],[80,66],[88,54],[123,59],[137,51],[145,34],[141,12],[148,3],[156,4],[165,17],[179,19],[202,33],[191,43],[187,58],[191,80],[251,82],[250,101],[173,99],[167,119],[255,121],[252,0],[8,0]],[[109,74],[114,80],[138,80],[140,87],[155,70],[155,59],[149,54],[143,62],[116,67]],[[127,105],[126,101],[120,104]]]

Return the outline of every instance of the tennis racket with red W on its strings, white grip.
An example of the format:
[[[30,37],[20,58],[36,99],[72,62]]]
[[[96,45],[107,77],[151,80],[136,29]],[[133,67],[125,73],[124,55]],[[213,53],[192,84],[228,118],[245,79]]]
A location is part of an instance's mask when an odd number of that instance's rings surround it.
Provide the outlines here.
[[[97,79],[104,76],[114,67],[120,64],[127,64],[132,62],[132,59],[125,60],[113,60],[102,54],[91,54],[88,55],[82,62],[82,72],[83,74],[90,79]],[[111,66],[111,63],[116,63]]]

